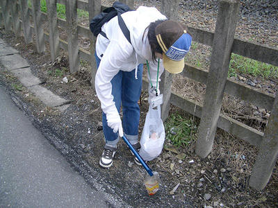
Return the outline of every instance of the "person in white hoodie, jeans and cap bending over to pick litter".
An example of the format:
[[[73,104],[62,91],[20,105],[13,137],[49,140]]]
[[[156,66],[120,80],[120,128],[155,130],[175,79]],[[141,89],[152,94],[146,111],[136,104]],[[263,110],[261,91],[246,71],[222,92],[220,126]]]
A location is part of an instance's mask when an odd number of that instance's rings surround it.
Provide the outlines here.
[[[117,142],[123,135],[136,150],[140,150],[138,100],[143,64],[146,63],[148,68],[150,102],[159,94],[158,81],[164,69],[170,73],[183,71],[184,57],[192,39],[185,26],[168,20],[156,8],[140,6],[121,16],[130,31],[131,43],[124,36],[116,16],[102,26],[101,31],[106,37],[97,36],[95,50],[95,89],[103,111],[106,141],[99,164],[104,168],[113,164]],[[119,114],[121,105],[122,120]],[[134,159],[140,164],[136,157]]]

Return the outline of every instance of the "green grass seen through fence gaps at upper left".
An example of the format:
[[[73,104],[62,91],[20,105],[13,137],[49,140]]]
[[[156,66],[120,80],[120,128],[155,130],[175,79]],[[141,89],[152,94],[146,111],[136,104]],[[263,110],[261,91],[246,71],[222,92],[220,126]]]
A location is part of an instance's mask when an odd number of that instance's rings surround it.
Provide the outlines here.
[[[32,8],[31,0],[28,0],[28,7]],[[40,10],[42,12],[47,12],[47,3],[45,0],[40,0]],[[78,17],[89,17],[89,12],[77,9]],[[65,5],[57,3],[57,17],[60,19],[66,19],[65,15]]]

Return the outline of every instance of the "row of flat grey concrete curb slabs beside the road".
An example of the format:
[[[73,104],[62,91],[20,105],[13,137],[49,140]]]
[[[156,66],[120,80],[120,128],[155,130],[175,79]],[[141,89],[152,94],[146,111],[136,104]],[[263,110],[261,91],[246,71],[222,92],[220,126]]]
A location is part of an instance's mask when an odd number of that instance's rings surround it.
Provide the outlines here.
[[[9,46],[0,38],[0,62],[3,66],[13,73],[24,87],[28,89],[34,96],[38,97],[44,105],[56,107],[60,112],[70,107],[70,101],[57,96],[49,89],[42,87],[43,83],[38,77],[33,76],[30,64],[19,55],[19,52],[12,46]]]

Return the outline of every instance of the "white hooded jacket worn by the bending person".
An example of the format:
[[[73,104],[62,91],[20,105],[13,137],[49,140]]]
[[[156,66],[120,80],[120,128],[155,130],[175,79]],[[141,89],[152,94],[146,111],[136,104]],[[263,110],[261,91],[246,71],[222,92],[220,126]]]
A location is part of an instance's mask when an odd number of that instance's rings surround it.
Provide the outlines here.
[[[149,62],[149,71],[153,85],[156,84],[157,78],[157,62],[152,60],[152,51],[147,39],[147,32],[144,39],[142,36],[145,28],[149,24],[158,19],[166,19],[156,8],[140,6],[135,11],[125,12],[122,19],[131,34],[131,43],[126,40],[119,26],[117,16],[102,26],[101,31],[106,33],[106,37],[97,36],[96,52],[101,59],[99,69],[95,77],[95,89],[99,101],[101,101],[101,109],[105,114],[108,112],[117,112],[115,103],[113,102],[112,78],[120,71],[132,71],[137,69],[138,64]],[[101,54],[103,57],[101,58]],[[162,60],[159,64],[159,77],[163,73]],[[136,77],[137,78],[137,70]]]

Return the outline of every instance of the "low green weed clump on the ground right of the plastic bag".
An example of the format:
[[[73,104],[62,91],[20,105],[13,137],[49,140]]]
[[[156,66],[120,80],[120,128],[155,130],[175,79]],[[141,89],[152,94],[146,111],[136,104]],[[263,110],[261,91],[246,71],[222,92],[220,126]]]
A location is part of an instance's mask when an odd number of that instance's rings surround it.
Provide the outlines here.
[[[173,134],[173,128],[176,130]],[[197,125],[192,120],[183,118],[178,113],[168,117],[165,123],[166,139],[170,139],[174,146],[188,146],[195,139]]]

